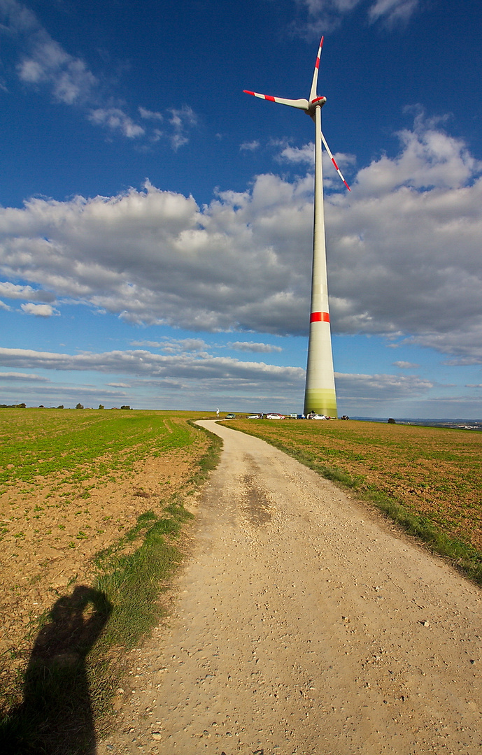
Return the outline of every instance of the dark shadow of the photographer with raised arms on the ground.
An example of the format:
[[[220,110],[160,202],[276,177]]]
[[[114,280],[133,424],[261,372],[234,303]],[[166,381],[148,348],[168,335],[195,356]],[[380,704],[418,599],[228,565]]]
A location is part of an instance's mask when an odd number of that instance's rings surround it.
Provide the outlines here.
[[[104,593],[82,585],[54,603],[29,658],[23,702],[11,710],[2,732],[4,753],[94,755],[85,659],[111,612]]]

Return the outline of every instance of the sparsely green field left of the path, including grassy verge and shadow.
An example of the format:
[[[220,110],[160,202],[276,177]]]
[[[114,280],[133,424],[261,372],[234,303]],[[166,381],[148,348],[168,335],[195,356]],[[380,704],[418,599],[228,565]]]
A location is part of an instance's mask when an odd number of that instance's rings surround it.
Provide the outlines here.
[[[72,741],[72,755],[91,753],[128,650],[165,615],[162,593],[192,519],[184,504],[217,464],[219,439],[191,424],[202,417],[0,410],[0,741],[8,752],[55,755]]]

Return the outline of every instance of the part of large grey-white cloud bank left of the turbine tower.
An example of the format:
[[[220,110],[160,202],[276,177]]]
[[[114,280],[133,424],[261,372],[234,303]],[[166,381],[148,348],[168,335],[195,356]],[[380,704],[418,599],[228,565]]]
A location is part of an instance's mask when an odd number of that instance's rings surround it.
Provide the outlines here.
[[[142,192],[0,209],[0,266],[128,322],[190,330],[304,331],[312,180],[258,177],[252,192],[192,197]],[[241,282],[241,285],[239,285]]]

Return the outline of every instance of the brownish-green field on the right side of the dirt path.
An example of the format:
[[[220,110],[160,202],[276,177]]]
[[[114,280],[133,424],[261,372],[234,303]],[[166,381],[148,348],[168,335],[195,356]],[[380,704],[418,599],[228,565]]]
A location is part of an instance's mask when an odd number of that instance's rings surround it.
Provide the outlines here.
[[[236,420],[356,488],[482,581],[482,433],[360,421]]]

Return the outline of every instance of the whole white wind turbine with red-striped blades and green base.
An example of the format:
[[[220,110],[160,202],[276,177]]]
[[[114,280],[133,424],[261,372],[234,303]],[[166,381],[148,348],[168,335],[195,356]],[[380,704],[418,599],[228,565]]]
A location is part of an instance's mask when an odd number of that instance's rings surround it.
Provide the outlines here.
[[[348,191],[350,186],[341,175],[335,158],[329,150],[321,131],[321,109],[326,97],[318,97],[318,69],[320,68],[323,37],[318,49],[317,62],[314,66],[313,81],[309,100],[284,100],[282,97],[270,97],[244,90],[246,94],[260,97],[261,100],[278,102],[299,110],[304,110],[315,124],[315,159],[314,159],[314,233],[313,233],[313,272],[311,276],[311,315],[310,336],[308,338],[308,359],[306,387],[304,389],[304,413],[315,411],[328,417],[338,417],[336,410],[335,375],[333,373],[332,339],[329,325],[328,280],[326,276],[326,242],[325,216],[323,213],[323,169],[321,165],[321,143],[329,154],[339,177]]]

